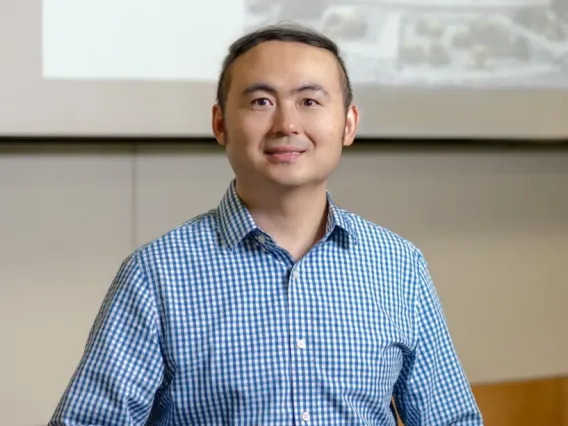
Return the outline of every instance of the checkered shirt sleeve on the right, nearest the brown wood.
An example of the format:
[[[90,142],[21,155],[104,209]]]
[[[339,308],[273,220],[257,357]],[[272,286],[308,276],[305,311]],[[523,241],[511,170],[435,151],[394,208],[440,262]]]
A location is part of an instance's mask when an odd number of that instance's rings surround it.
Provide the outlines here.
[[[426,261],[416,259],[415,345],[394,389],[405,426],[482,426],[483,419],[460,364]]]

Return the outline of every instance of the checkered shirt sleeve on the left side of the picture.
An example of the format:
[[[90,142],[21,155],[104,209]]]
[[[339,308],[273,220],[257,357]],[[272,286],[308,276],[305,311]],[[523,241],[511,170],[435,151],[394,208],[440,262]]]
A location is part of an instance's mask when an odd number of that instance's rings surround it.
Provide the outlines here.
[[[154,299],[135,256],[115,276],[49,426],[146,423],[163,372]]]

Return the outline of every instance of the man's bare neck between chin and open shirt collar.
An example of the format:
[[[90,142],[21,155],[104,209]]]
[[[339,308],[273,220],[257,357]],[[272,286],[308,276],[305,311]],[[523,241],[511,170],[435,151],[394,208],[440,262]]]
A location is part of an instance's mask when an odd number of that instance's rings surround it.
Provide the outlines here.
[[[255,223],[297,261],[319,241],[327,224],[325,185],[270,190],[240,187],[237,193]]]

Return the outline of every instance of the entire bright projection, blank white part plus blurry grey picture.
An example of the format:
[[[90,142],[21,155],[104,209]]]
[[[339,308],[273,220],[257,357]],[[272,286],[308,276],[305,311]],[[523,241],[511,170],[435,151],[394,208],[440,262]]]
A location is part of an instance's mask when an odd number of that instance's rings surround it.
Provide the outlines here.
[[[354,84],[568,88],[567,0],[45,0],[44,77],[214,82],[279,21],[332,37]]]

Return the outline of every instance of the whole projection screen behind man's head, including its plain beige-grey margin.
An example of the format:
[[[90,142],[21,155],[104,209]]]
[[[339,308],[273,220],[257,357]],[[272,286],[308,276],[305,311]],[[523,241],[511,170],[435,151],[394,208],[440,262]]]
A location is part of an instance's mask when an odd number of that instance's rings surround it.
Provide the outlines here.
[[[568,136],[565,0],[3,0],[0,135],[209,137],[236,37],[340,46],[362,137]]]

